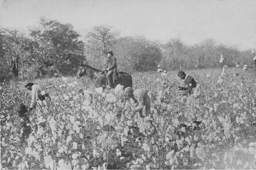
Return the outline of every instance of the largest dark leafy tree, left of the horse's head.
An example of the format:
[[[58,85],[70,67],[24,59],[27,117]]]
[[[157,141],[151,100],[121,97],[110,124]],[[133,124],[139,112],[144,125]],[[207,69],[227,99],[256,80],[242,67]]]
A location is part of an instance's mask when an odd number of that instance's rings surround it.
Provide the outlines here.
[[[68,74],[76,70],[84,57],[84,42],[71,24],[41,18],[41,27],[30,30],[35,40],[35,62],[41,74],[61,72]]]

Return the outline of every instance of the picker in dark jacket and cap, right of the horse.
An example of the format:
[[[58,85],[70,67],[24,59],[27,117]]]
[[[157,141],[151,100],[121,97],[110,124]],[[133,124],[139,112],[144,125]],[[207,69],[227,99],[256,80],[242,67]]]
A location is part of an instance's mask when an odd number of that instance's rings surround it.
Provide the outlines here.
[[[196,87],[195,79],[193,77],[185,74],[184,71],[179,71],[178,77],[180,77],[180,79],[184,80],[184,87],[179,86],[179,89],[184,91],[184,95],[191,94],[192,89]]]

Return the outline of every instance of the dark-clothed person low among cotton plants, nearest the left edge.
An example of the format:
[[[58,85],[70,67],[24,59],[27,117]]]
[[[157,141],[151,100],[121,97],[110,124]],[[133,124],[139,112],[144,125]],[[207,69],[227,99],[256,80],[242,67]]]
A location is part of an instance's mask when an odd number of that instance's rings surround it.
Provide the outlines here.
[[[22,103],[16,106],[15,112],[19,116],[19,120],[15,125],[14,137],[17,136],[17,145],[22,146],[24,140],[28,138],[29,134],[31,133],[29,116],[26,114],[28,110],[26,109],[26,106]]]

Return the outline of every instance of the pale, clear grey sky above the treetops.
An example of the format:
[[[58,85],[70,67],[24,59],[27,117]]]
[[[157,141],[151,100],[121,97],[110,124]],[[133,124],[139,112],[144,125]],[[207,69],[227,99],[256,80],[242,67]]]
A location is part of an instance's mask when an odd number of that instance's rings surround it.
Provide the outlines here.
[[[40,17],[70,23],[82,37],[108,25],[120,37],[162,43],[179,37],[186,45],[210,38],[256,49],[256,0],[0,0],[0,28],[27,33]]]

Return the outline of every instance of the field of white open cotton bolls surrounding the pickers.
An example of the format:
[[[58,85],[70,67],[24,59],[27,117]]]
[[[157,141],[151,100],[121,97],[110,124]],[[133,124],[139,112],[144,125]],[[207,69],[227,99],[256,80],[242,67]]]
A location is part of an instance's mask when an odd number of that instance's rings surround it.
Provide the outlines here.
[[[46,88],[52,102],[41,115],[31,114],[32,133],[23,147],[12,134],[14,105],[28,104],[30,96],[20,88],[25,82],[1,84],[2,167],[255,169],[256,75],[250,68],[223,70],[186,71],[198,82],[189,97],[176,88],[183,83],[176,71],[133,74],[134,85],[146,83],[151,99],[166,93],[151,107],[152,117],[144,119],[132,115],[120,89],[94,90],[92,82],[74,77],[38,79],[35,83]],[[89,88],[82,96],[78,91],[84,84]]]

